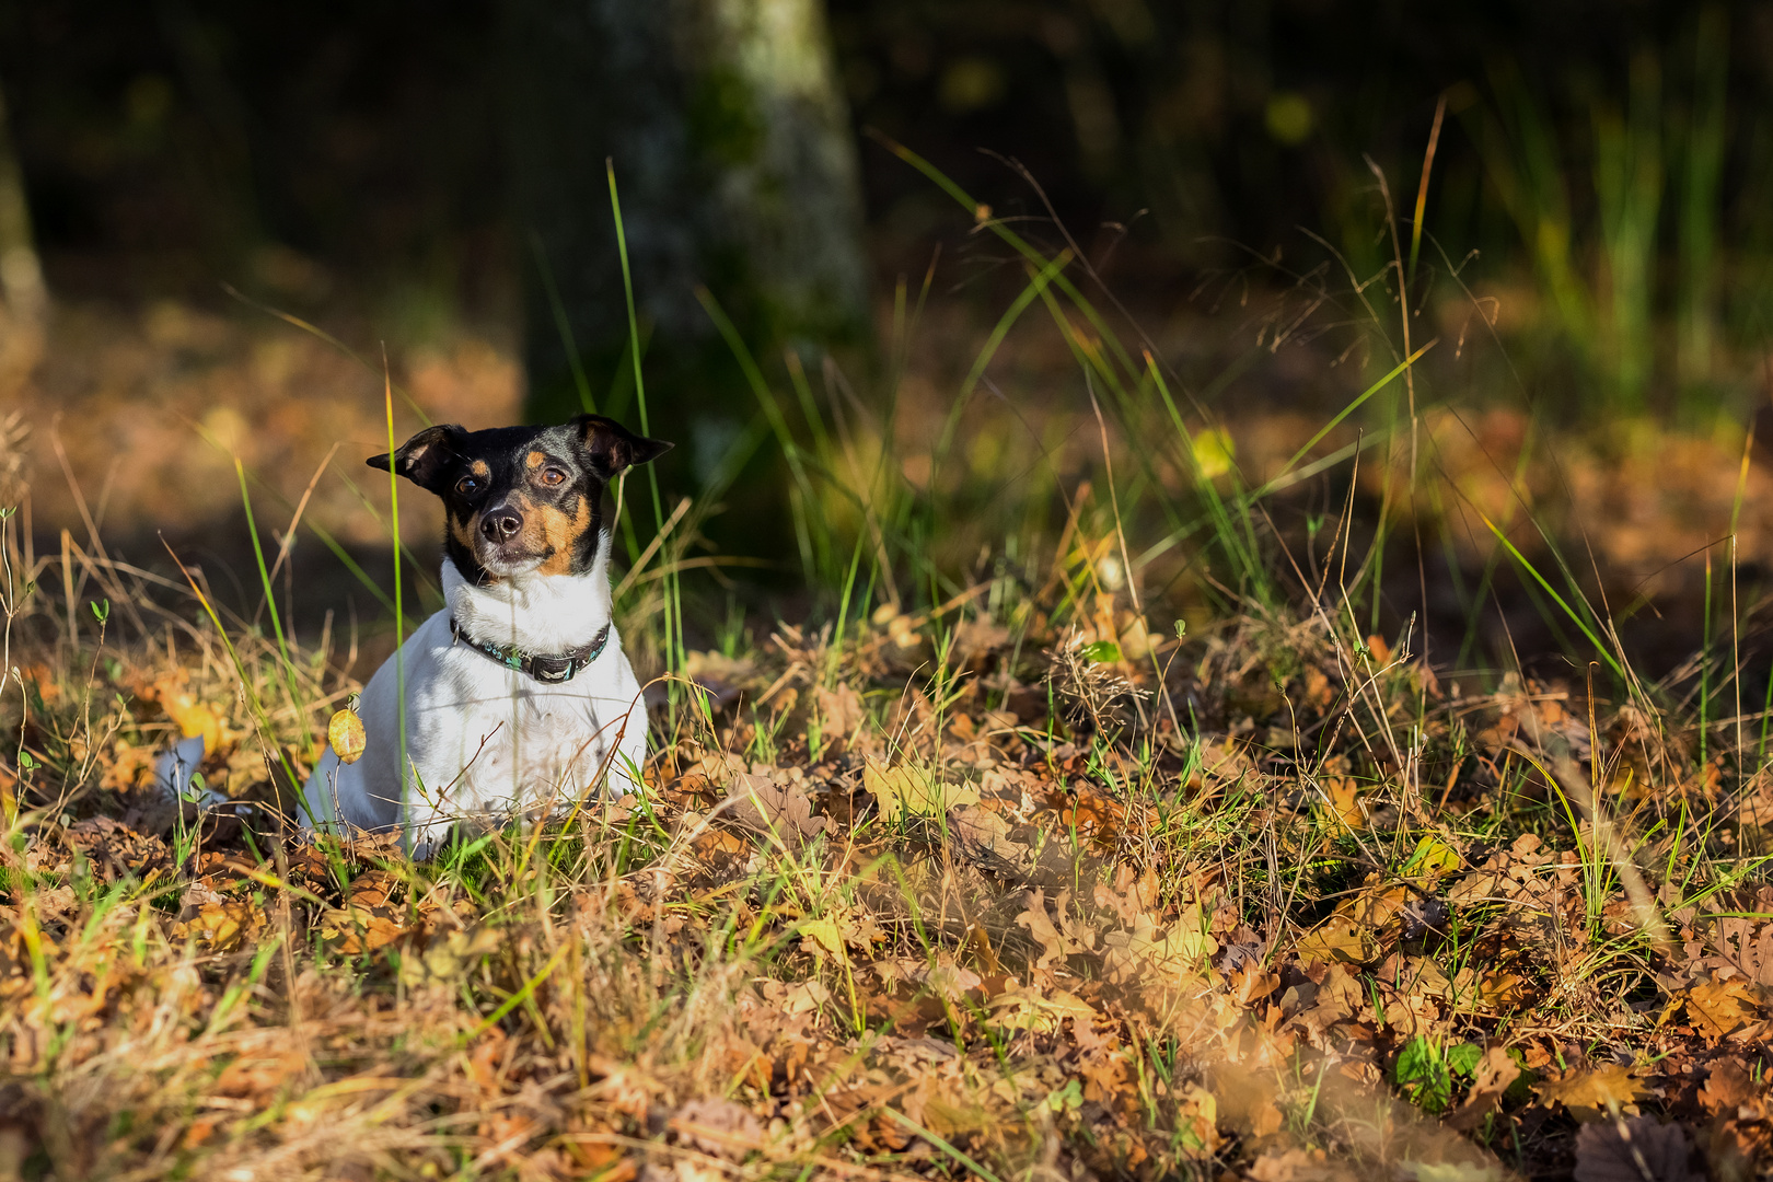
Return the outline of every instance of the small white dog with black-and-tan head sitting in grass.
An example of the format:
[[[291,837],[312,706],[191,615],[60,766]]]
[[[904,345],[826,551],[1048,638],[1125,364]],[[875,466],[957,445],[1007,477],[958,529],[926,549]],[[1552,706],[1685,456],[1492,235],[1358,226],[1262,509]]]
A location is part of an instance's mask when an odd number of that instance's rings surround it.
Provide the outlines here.
[[[449,606],[369,679],[363,755],[340,764],[328,748],[305,826],[399,828],[424,858],[457,817],[558,808],[605,776],[613,796],[638,790],[647,712],[610,620],[603,491],[667,448],[578,415],[427,427],[369,461],[443,498]]]

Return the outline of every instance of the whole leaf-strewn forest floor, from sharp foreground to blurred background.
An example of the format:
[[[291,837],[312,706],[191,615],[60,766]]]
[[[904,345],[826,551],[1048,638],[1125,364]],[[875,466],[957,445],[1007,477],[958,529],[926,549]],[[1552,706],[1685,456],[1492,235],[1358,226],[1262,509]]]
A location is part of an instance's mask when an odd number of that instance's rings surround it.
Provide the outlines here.
[[[647,549],[624,638],[652,668],[679,647],[647,796],[424,863],[277,820],[387,638],[346,613],[278,636],[294,613],[234,578],[248,480],[261,523],[282,500],[339,553],[387,546],[353,482],[394,431],[383,376],[172,303],[0,358],[37,459],[0,415],[0,503],[25,505],[0,521],[0,1180],[1768,1177],[1773,773],[1745,673],[1773,525],[1743,507],[1773,500],[1773,448],[1447,404],[1410,424],[1402,496],[1401,447],[1282,390],[1158,463],[1161,422],[1110,445],[1064,402],[1080,356],[1106,370],[1053,323],[1004,337],[1027,400],[952,420],[959,493],[929,487],[941,392],[984,372],[959,344],[823,457],[906,512],[947,496],[929,544],[970,583],[681,652],[660,565],[684,553]],[[422,413],[516,415],[486,342],[395,356]],[[1156,374],[1119,379],[1154,402]],[[1254,507],[1307,454],[1324,475]],[[1165,537],[1160,510],[1230,498],[1216,535]],[[424,551],[431,507],[406,512]],[[1381,585],[1374,519],[1443,539],[1470,587],[1395,558]],[[271,540],[275,601],[328,601],[307,535]],[[1379,636],[1374,597],[1424,615]],[[236,805],[154,785],[195,735]]]

